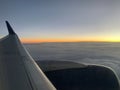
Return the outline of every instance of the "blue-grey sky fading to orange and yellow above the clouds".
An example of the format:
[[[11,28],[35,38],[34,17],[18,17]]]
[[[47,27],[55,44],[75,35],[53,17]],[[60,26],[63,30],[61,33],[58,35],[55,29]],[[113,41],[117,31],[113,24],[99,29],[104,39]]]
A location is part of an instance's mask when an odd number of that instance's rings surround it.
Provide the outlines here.
[[[8,20],[22,42],[120,42],[120,0],[1,0],[0,37]]]

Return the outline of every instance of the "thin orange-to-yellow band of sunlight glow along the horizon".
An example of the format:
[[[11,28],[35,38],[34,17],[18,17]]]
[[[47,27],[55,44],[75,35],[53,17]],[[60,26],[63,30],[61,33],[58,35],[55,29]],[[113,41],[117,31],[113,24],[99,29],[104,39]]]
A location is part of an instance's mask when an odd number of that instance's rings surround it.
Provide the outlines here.
[[[43,42],[120,42],[120,39],[107,38],[107,39],[28,39],[22,38],[23,43],[43,43]]]

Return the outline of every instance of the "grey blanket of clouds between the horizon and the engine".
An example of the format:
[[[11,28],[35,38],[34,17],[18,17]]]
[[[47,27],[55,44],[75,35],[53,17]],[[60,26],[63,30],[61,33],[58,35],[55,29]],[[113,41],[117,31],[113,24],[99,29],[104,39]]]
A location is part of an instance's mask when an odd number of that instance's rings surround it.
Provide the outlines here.
[[[24,44],[35,60],[74,61],[111,67],[120,78],[120,43]]]

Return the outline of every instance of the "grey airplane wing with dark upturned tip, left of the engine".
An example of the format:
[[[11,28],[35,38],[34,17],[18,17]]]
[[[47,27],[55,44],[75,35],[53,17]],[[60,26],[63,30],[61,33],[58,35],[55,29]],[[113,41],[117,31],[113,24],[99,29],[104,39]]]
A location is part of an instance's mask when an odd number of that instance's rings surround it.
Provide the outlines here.
[[[0,40],[0,90],[56,90],[6,24],[9,34]]]

